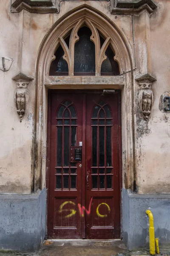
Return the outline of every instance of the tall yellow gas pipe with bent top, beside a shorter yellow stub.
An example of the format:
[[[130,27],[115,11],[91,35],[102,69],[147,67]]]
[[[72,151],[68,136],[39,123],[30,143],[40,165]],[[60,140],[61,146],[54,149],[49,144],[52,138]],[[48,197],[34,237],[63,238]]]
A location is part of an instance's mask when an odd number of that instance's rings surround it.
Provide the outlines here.
[[[153,214],[150,210],[146,211],[146,214],[149,216],[149,246],[150,254],[155,255],[155,230],[153,225]]]

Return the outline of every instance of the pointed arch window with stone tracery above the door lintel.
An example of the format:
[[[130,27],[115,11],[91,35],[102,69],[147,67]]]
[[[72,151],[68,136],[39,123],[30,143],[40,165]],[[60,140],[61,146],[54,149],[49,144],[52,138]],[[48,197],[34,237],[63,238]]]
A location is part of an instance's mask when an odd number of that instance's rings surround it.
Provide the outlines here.
[[[59,37],[50,76],[117,76],[119,65],[111,38],[105,38],[94,24],[79,21],[65,37]]]

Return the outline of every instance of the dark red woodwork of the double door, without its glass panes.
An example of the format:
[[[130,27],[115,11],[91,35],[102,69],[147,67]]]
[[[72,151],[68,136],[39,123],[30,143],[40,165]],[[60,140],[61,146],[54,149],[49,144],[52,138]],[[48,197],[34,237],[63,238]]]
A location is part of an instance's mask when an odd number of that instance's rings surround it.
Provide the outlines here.
[[[48,97],[48,136],[47,136],[47,189],[48,189],[48,238],[120,238],[120,189],[121,176],[121,119],[120,96],[114,94],[101,96],[95,91],[78,90],[56,93],[51,90]],[[55,189],[57,167],[57,111],[60,103],[70,101],[77,111],[77,146],[82,142],[82,163],[77,163],[77,189]],[[111,109],[111,166],[113,168],[112,189],[106,187],[105,147],[105,189],[92,189],[92,113],[97,102],[104,101]],[[105,119],[106,125],[106,119]],[[105,126],[104,125],[104,126]],[[103,127],[104,127],[103,126]],[[106,127],[106,126],[105,126]],[[99,128],[98,128],[99,131]],[[106,128],[105,128],[106,141]],[[98,135],[99,139],[99,135]],[[63,144],[62,139],[62,144]],[[99,168],[99,141],[98,164]],[[106,142],[105,142],[106,145]],[[63,148],[63,147],[62,147]],[[62,167],[63,166],[62,150]],[[70,164],[69,164],[70,165]],[[80,167],[82,165],[82,167]],[[60,168],[59,166],[57,168]],[[64,174],[62,174],[64,175]],[[98,174],[99,175],[99,174]]]

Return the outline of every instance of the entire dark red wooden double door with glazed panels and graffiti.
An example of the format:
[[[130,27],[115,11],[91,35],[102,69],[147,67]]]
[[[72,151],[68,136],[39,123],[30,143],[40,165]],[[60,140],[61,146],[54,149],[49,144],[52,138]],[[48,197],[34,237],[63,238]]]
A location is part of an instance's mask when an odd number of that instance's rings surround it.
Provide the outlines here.
[[[49,93],[48,238],[120,237],[119,105],[119,93]]]

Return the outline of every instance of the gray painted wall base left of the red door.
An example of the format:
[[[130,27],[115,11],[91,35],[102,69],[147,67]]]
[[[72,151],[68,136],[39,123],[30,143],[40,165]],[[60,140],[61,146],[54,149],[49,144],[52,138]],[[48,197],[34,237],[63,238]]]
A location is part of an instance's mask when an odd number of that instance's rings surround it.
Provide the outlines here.
[[[45,189],[31,195],[0,195],[0,249],[38,250],[45,225]]]

